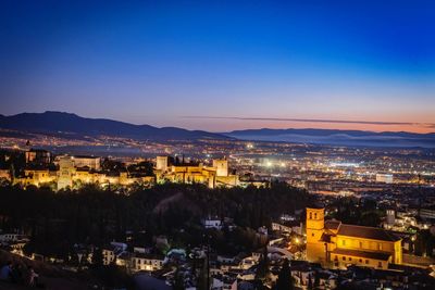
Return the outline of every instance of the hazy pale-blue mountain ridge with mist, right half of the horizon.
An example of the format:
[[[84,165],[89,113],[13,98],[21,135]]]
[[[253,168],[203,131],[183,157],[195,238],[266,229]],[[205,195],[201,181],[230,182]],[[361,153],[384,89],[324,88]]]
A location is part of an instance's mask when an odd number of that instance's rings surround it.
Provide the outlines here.
[[[361,147],[435,148],[435,133],[363,131],[337,129],[247,129],[223,133],[241,140],[302,142]]]

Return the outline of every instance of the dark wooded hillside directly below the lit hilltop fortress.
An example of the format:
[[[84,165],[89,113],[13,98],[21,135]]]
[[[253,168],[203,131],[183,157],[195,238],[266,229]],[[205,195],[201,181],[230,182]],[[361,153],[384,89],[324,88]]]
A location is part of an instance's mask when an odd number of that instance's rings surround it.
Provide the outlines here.
[[[0,228],[29,235],[30,250],[63,256],[74,243],[99,245],[126,235],[139,244],[166,235],[179,245],[195,245],[203,239],[200,220],[208,216],[232,218],[251,235],[248,229],[269,226],[272,218],[308,203],[306,191],[286,184],[260,189],[167,184],[128,196],[94,186],[59,192],[7,186],[0,188]],[[237,232],[228,235],[240,239]]]

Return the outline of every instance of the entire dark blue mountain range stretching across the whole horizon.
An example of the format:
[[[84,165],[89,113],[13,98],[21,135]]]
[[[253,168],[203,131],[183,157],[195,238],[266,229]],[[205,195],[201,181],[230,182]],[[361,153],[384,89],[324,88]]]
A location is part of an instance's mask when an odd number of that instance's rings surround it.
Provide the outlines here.
[[[239,139],[335,146],[435,148],[435,133],[262,128],[216,134],[176,127],[158,128],[150,125],[134,125],[113,119],[87,118],[76,114],[50,111],[45,113],[22,113],[11,116],[0,115],[0,128],[20,133],[63,135],[70,138],[111,136],[156,141]]]

